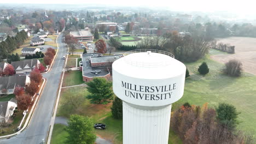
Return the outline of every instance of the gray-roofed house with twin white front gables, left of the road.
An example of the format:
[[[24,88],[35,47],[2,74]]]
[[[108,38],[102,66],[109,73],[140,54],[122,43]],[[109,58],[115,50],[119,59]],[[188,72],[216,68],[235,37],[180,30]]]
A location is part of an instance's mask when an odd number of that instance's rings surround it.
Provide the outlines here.
[[[25,59],[24,61],[11,62],[16,74],[30,73],[34,68],[39,67],[38,59]]]

